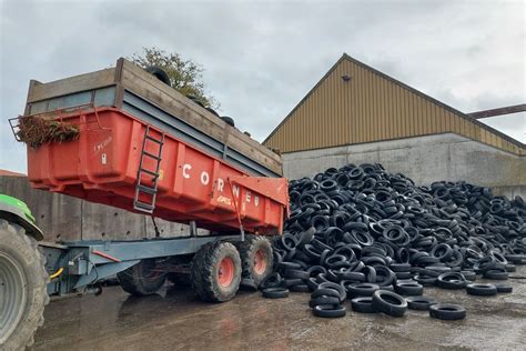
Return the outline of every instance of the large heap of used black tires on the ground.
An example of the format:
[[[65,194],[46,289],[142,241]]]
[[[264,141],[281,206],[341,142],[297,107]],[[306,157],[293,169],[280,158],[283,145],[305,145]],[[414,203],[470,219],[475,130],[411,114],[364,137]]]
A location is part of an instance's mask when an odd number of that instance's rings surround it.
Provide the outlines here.
[[[315,315],[345,315],[351,298],[357,312],[399,317],[414,308],[459,319],[461,305],[422,297],[424,287],[509,292],[473,281],[506,280],[526,263],[520,197],[510,201],[466,182],[417,187],[375,163],[291,181],[290,199],[285,233],[274,241],[275,272],[260,288],[280,297],[312,292]]]

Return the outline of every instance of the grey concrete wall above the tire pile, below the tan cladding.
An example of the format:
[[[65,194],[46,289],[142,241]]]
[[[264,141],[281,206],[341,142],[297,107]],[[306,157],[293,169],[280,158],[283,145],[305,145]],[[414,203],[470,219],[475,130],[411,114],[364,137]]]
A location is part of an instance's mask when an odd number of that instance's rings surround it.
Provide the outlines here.
[[[526,197],[526,158],[482,142],[445,133],[371,142],[283,154],[285,177],[312,177],[330,167],[347,163],[382,163],[417,184],[437,180],[467,182],[494,188],[508,198]]]

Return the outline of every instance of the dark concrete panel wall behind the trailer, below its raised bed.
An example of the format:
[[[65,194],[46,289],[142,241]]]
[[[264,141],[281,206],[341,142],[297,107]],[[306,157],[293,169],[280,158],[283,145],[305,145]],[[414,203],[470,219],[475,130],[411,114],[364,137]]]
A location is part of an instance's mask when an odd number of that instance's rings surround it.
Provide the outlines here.
[[[154,238],[152,219],[112,207],[31,189],[26,177],[0,177],[0,193],[28,203],[47,241]],[[156,219],[161,237],[185,237],[189,227]],[[199,234],[206,234],[199,230]]]

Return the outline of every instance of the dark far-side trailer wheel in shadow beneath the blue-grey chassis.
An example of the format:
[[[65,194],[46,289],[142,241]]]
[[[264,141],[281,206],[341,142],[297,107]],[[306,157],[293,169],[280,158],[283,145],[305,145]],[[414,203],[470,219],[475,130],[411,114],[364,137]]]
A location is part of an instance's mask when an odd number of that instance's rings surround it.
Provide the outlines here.
[[[135,297],[150,295],[164,285],[166,274],[155,269],[155,260],[141,260],[138,264],[117,273],[122,289]]]

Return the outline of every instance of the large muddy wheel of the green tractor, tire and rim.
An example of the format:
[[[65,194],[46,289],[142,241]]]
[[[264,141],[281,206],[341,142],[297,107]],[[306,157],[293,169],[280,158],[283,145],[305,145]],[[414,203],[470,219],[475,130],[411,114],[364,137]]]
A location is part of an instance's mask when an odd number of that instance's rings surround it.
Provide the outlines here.
[[[0,350],[33,344],[49,303],[45,259],[37,241],[16,224],[0,219]]]

